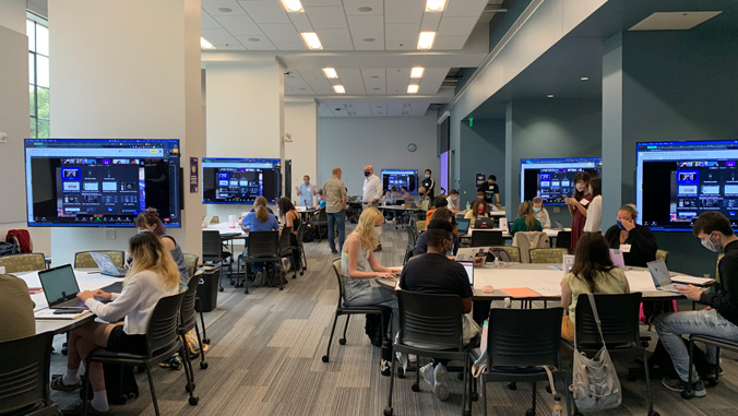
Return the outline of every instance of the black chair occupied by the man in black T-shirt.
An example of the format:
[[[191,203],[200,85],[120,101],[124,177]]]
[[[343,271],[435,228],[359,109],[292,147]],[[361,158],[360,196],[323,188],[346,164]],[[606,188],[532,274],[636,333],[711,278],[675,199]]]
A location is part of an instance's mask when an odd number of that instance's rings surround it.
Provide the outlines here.
[[[457,295],[431,295],[408,290],[397,292],[400,305],[400,329],[393,344],[393,353],[415,354],[419,357],[456,359],[464,361],[462,416],[467,412],[467,397],[472,389],[469,352],[464,345],[461,299]],[[384,416],[392,416],[392,390],[394,375],[400,362],[393,354],[390,394]],[[419,360],[418,360],[419,362]],[[420,391],[420,371],[416,371],[413,391]],[[468,393],[468,394],[467,394]],[[468,412],[472,412],[471,401]]]

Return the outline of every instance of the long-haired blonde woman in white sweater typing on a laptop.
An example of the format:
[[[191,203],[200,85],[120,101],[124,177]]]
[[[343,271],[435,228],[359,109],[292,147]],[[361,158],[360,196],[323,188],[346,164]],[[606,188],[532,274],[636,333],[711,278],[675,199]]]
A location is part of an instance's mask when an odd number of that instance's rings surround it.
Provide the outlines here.
[[[179,270],[162,239],[153,233],[131,237],[129,252],[133,258],[132,269],[123,282],[120,294],[103,290],[84,290],[76,296],[98,318],[118,323],[90,322],[69,334],[67,373],[51,382],[51,389],[72,391],[80,388],[79,369],[82,360],[98,347],[120,353],[145,354],[146,328],[154,307],[165,296],[176,295]],[[111,299],[103,304],[100,299]],[[94,395],[87,412],[104,415],[108,412],[103,365],[94,362],[87,369]]]

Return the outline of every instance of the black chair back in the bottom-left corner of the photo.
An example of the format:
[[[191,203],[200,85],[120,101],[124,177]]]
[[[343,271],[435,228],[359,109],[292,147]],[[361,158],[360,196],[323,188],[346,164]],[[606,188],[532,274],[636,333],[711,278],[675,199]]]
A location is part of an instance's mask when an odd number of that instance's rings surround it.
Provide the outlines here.
[[[52,332],[0,343],[0,415],[60,415],[49,394]]]

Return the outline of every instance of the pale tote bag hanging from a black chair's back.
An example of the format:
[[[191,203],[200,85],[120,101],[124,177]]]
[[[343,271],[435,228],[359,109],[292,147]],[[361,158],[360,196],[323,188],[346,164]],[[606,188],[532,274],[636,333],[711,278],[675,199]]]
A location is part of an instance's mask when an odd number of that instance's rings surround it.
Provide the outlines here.
[[[569,387],[569,390],[580,411],[605,411],[620,405],[622,392],[618,373],[615,371],[615,365],[605,345],[605,336],[603,335],[595,298],[592,294],[588,294],[587,299],[590,300],[590,305],[592,305],[592,312],[594,313],[595,322],[597,322],[597,331],[599,331],[603,347],[593,358],[587,358],[584,353],[580,353],[576,349],[576,342],[574,341],[572,384]]]

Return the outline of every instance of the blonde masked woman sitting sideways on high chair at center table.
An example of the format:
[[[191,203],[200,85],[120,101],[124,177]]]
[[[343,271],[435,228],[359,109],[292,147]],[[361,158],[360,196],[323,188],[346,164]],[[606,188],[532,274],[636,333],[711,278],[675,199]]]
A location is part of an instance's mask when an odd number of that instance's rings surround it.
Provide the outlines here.
[[[356,229],[344,243],[341,252],[341,274],[344,277],[344,300],[347,306],[380,306],[384,307],[382,319],[388,329],[382,342],[382,376],[390,376],[392,364],[392,348],[389,340],[396,329],[396,322],[390,325],[390,320],[397,313],[397,299],[390,290],[380,286],[376,278],[396,278],[398,270],[385,268],[377,261],[374,248],[379,245],[384,217],[374,207],[365,209],[359,216]]]

